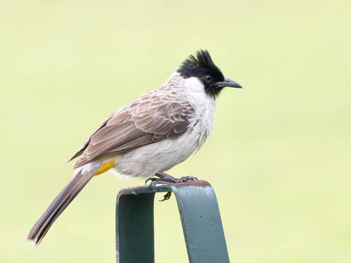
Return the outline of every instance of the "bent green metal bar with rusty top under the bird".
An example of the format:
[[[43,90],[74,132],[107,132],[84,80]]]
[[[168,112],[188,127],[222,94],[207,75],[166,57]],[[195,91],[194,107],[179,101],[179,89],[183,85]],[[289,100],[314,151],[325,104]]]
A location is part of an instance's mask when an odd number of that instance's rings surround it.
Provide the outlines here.
[[[229,262],[217,198],[202,180],[122,189],[116,209],[117,262],[154,262],[156,192],[173,192],[177,199],[189,262]]]

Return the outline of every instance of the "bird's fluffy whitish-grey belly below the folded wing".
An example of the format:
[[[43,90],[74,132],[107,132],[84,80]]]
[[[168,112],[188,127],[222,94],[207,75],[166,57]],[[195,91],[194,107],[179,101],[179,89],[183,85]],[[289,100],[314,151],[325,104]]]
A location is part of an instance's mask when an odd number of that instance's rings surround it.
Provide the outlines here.
[[[149,178],[186,160],[199,147],[204,135],[193,130],[176,139],[155,142],[114,156],[111,170],[122,176]]]

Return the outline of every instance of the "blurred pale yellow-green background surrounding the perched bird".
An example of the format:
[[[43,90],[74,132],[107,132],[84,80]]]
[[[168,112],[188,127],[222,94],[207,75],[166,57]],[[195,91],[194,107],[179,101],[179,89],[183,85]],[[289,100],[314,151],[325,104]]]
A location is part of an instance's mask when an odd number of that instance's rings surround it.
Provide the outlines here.
[[[212,184],[231,261],[351,262],[350,12],[348,1],[2,1],[1,262],[115,262],[115,198],[143,181],[94,178],[38,248],[26,237],[88,135],[200,48],[244,89],[221,94],[210,139],[169,173]],[[155,222],[156,262],[187,262],[175,198],[155,202]]]

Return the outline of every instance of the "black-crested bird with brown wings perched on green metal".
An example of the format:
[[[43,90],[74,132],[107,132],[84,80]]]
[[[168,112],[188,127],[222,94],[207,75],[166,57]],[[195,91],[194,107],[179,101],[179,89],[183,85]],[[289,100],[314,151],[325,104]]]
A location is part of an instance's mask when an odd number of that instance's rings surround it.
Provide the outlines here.
[[[108,170],[151,180],[150,185],[197,180],[164,172],[203,146],[212,131],[216,100],[225,87],[243,88],[225,78],[208,51],[201,49],[188,56],[161,87],[108,116],[69,159],[79,157],[72,180],[33,225],[27,241],[37,246],[82,188]]]

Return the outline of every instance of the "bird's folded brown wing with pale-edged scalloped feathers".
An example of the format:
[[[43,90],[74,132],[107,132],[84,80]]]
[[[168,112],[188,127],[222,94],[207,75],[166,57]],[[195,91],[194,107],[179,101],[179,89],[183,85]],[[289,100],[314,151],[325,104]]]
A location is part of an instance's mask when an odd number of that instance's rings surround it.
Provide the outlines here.
[[[112,114],[94,131],[71,158],[81,154],[74,168],[160,140],[177,138],[188,130],[194,118],[194,109],[188,102],[136,100]]]

